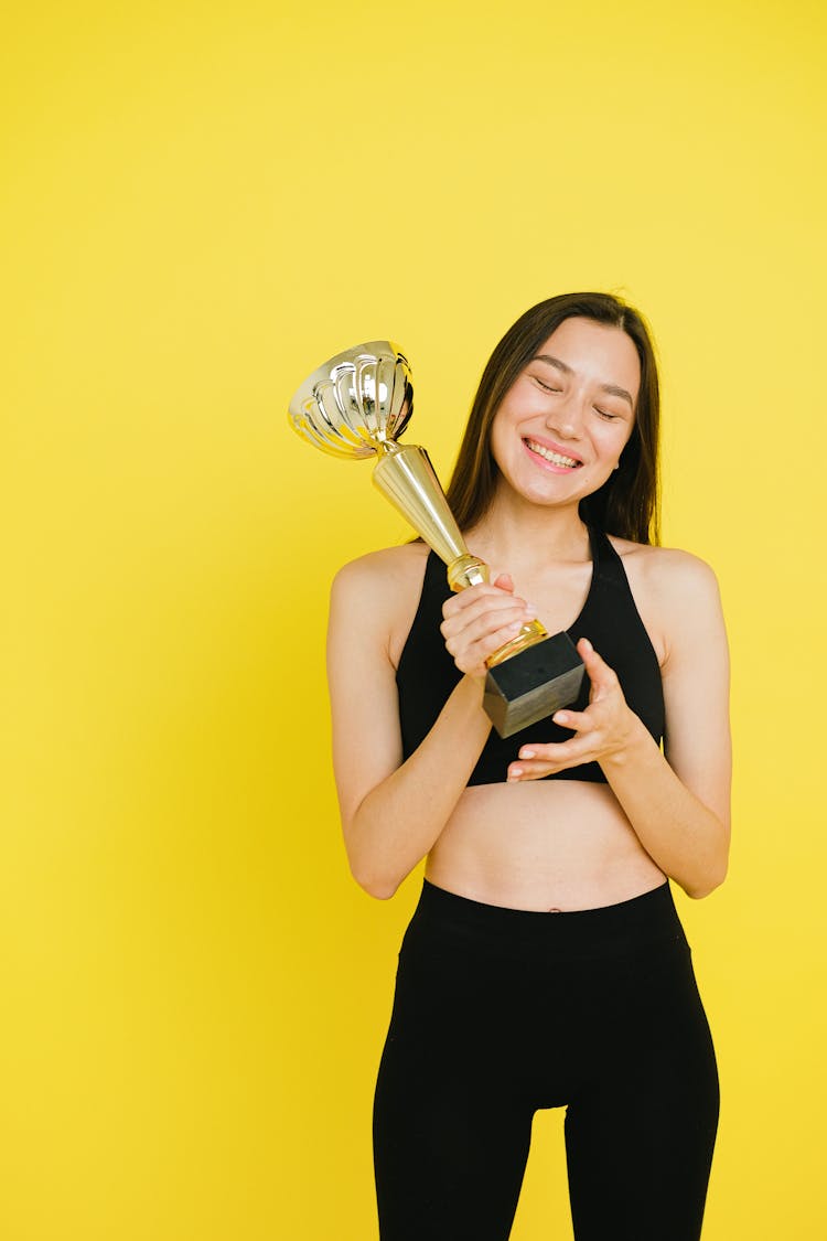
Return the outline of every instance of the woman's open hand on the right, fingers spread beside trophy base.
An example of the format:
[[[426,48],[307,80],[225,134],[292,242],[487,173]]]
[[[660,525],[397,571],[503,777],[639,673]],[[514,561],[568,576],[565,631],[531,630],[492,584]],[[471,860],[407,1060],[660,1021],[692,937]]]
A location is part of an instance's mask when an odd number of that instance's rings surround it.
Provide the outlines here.
[[[591,681],[589,705],[585,711],[563,710],[552,716],[554,724],[572,728],[574,736],[557,743],[532,741],[522,746],[517,761],[508,766],[511,783],[542,779],[580,763],[599,763],[622,751],[635,736],[640,721],[630,710],[616,674],[588,638],[580,638],[577,649]]]

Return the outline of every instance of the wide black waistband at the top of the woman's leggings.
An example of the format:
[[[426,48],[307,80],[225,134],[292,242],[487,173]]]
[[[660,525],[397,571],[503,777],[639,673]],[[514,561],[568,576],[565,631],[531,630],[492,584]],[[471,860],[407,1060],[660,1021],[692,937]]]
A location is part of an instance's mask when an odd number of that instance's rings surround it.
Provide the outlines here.
[[[657,942],[686,944],[668,881],[617,905],[546,913],[485,905],[424,880],[409,931],[459,937],[496,956],[539,953],[555,961],[617,957]]]

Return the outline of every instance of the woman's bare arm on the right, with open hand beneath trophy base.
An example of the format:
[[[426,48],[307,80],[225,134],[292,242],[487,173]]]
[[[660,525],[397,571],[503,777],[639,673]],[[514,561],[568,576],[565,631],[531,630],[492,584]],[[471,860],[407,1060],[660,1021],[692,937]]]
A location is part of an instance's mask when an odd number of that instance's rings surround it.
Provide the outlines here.
[[[729,855],[729,653],[714,573],[693,556],[666,555],[665,752],[627,706],[615,673],[580,639],[589,706],[554,715],[574,736],[524,746],[508,778],[537,779],[599,762],[647,854],[689,896],[701,897],[723,882]]]

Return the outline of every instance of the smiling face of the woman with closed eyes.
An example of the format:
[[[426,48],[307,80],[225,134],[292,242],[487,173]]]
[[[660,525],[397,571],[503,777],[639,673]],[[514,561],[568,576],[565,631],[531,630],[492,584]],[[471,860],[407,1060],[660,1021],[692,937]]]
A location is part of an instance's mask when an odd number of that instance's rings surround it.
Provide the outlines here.
[[[565,319],[505,396],[491,427],[502,479],[536,504],[596,491],[632,433],[640,361],[630,336]]]

